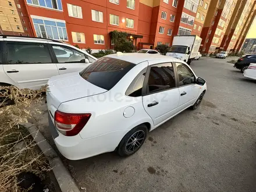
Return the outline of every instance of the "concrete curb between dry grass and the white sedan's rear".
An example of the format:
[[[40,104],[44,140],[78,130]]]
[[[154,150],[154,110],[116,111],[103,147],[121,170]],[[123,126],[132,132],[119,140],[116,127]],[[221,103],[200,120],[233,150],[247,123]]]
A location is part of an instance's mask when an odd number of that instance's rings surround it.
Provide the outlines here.
[[[40,150],[44,153],[45,157],[48,159],[52,166],[52,171],[56,177],[56,180],[63,192],[80,192],[76,183],[69,171],[63,165],[61,159],[58,157],[57,153],[42,135],[42,133],[31,123],[23,124],[27,129],[29,129],[31,136],[34,138]]]

